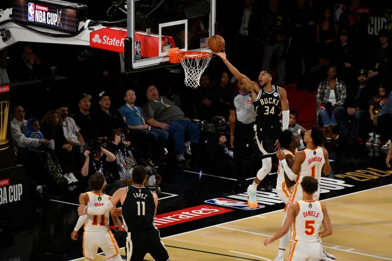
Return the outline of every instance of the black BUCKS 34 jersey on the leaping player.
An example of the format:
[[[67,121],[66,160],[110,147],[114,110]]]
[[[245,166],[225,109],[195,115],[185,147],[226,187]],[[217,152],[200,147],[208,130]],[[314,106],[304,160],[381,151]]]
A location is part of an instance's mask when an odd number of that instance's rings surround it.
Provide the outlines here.
[[[278,86],[272,85],[271,93],[260,89],[259,95],[252,102],[256,111],[256,125],[274,125],[279,122],[281,107]]]

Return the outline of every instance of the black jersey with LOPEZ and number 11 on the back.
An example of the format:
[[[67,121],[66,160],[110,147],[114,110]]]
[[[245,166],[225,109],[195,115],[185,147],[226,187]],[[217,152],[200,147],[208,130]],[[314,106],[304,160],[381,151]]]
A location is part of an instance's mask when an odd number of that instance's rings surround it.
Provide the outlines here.
[[[128,232],[156,229],[153,225],[155,202],[151,190],[146,187],[126,188],[123,204],[124,227]]]

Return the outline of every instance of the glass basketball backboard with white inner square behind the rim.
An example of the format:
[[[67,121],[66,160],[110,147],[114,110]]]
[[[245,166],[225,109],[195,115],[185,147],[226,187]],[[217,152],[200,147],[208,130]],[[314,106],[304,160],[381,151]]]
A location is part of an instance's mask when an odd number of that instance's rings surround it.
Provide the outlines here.
[[[169,64],[172,47],[209,50],[216,0],[127,0],[125,70]]]

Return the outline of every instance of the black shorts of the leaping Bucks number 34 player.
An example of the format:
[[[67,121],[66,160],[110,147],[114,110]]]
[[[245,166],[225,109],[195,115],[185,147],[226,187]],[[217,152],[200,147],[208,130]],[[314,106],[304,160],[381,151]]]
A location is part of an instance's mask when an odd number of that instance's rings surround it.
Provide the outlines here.
[[[273,125],[255,125],[256,141],[262,155],[275,153],[275,142],[282,132],[282,123],[279,121]]]

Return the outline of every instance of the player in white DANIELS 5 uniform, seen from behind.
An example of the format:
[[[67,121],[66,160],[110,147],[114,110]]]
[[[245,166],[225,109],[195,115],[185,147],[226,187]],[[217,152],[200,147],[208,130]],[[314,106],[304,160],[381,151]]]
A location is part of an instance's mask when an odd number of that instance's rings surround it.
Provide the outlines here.
[[[332,235],[332,224],[327,208],[313,199],[313,194],[319,190],[318,181],[311,176],[303,177],[301,188],[302,199],[290,205],[282,228],[273,237],[264,240],[264,245],[285,235],[293,225],[294,242],[287,260],[319,261],[323,256],[320,238]],[[324,226],[322,231],[321,224]]]

